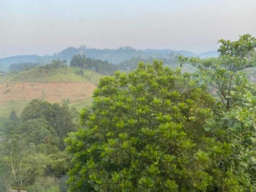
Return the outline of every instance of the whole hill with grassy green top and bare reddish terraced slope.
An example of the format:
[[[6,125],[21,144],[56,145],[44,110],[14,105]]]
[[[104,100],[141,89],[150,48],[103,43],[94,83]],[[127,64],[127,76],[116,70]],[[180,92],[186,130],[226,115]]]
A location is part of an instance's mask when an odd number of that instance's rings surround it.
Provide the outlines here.
[[[55,67],[39,66],[17,74],[7,74],[7,77],[1,76],[0,117],[7,117],[12,110],[19,115],[32,99],[60,104],[63,100],[69,100],[70,106],[77,109],[89,105],[103,75],[65,65]]]

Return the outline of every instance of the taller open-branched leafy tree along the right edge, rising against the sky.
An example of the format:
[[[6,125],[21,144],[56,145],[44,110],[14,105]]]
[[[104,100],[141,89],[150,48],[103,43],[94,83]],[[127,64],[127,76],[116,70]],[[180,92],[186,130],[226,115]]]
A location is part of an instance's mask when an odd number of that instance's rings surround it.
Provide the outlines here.
[[[221,105],[214,116],[205,124],[205,131],[211,131],[221,140],[231,144],[232,153],[223,158],[222,166],[228,170],[230,179],[223,180],[223,190],[256,190],[256,89],[242,72],[256,65],[256,39],[249,34],[238,41],[219,40],[218,58],[184,58],[198,71],[196,77],[212,86]],[[219,150],[218,150],[219,151]]]

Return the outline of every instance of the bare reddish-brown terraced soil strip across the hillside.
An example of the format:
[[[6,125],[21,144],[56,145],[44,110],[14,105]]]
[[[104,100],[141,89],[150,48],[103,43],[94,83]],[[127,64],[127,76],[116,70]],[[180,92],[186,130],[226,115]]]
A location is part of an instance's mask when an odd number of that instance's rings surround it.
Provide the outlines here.
[[[8,82],[0,84],[0,103],[11,100],[44,99],[61,103],[62,99],[78,102],[90,98],[96,85],[91,82]]]

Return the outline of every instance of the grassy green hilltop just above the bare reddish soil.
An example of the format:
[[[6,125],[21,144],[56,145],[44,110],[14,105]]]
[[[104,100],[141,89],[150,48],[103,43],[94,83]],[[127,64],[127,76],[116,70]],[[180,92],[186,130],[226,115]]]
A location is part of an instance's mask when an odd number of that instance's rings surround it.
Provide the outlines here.
[[[11,75],[7,81],[14,82],[98,82],[102,74],[91,70],[82,70],[77,74],[75,67],[60,66],[48,69],[45,66],[36,67],[18,74]]]

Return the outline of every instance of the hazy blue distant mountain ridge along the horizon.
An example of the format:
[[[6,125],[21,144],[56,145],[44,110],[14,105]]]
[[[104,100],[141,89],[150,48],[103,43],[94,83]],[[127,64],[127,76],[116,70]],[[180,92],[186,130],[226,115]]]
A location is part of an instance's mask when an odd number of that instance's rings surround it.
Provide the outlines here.
[[[67,60],[67,63],[70,62],[71,58],[76,55],[86,55],[86,57],[91,57],[95,59],[108,60],[111,63],[118,64],[122,61],[129,60],[132,57],[140,58],[170,58],[174,57],[177,54],[184,55],[186,57],[217,57],[218,53],[216,51],[208,51],[200,54],[195,54],[189,51],[177,51],[177,50],[157,50],[157,49],[145,49],[145,50],[136,50],[132,47],[125,46],[118,49],[92,49],[87,48],[86,46],[81,46],[79,48],[68,47],[65,50],[60,51],[59,53],[54,53],[53,55],[18,55],[6,58],[0,58],[0,70],[8,71],[8,67],[12,63],[22,63],[22,62],[35,62],[40,63],[41,65],[50,63],[53,59]]]

